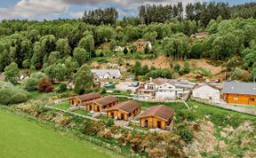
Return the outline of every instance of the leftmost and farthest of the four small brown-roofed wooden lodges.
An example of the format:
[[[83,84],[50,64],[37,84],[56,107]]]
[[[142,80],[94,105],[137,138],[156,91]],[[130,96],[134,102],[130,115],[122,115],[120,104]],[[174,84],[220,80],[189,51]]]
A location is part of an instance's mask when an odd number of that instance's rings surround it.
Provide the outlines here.
[[[71,106],[80,106],[82,103],[87,104],[88,102],[94,99],[100,99],[100,94],[92,92],[92,93],[84,94],[81,96],[76,96],[69,99],[69,104]]]

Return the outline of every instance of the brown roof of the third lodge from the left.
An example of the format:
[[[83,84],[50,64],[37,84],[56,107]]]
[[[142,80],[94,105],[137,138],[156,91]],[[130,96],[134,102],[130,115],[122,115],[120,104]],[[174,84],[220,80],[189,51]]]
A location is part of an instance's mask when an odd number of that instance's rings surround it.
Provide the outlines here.
[[[141,107],[139,103],[133,100],[125,101],[123,103],[117,104],[115,107],[108,108],[108,111],[111,110],[121,110],[125,113],[132,113],[132,111],[136,110],[138,107]]]

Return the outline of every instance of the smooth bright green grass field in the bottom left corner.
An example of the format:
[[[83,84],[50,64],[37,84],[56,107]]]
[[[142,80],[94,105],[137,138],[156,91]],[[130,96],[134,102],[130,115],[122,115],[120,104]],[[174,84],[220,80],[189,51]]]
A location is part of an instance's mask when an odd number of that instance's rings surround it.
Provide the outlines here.
[[[0,109],[0,157],[121,157],[100,146]]]

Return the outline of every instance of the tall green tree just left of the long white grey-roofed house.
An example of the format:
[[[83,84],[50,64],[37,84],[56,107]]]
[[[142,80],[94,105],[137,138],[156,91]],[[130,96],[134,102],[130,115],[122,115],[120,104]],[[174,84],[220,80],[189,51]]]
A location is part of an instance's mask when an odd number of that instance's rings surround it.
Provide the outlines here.
[[[81,91],[85,91],[85,89],[89,89],[93,84],[93,75],[88,66],[82,66],[77,71],[75,75],[75,91],[76,93],[80,93]]]

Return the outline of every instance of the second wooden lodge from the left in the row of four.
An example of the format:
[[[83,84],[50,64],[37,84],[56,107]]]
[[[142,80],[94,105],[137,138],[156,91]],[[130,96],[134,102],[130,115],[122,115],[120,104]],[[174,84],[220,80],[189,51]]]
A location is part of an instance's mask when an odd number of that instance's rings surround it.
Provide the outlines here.
[[[103,109],[114,107],[118,104],[116,97],[108,96],[100,99],[93,100],[90,104],[86,105],[87,111],[102,112]]]

